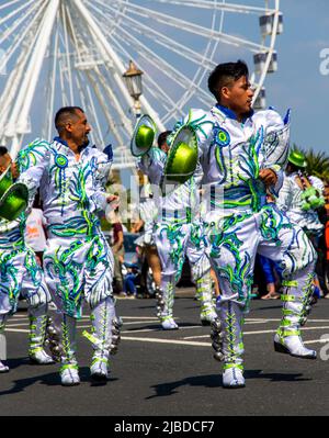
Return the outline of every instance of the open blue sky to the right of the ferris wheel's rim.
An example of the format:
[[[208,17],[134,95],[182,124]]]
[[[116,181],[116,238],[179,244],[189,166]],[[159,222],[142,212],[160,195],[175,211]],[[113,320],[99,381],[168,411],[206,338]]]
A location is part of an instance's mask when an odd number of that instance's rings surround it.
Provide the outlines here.
[[[293,143],[329,154],[329,71],[320,74],[320,52],[329,49],[329,1],[282,0],[281,10],[284,33],[276,44],[279,70],[265,83],[268,104],[292,108]]]

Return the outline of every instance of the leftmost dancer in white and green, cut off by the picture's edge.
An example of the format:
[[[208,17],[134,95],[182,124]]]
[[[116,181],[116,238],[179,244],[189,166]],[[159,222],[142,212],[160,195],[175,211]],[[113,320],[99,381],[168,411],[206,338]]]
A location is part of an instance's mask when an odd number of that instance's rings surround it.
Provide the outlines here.
[[[7,147],[1,146],[0,175],[12,171],[16,177],[12,165]],[[0,334],[4,330],[7,318],[16,312],[22,294],[29,306],[30,360],[32,363],[48,364],[54,363],[44,350],[50,295],[35,254],[25,244],[25,222],[26,213],[21,213],[14,221],[0,220]],[[9,367],[0,361],[0,372],[7,371]]]

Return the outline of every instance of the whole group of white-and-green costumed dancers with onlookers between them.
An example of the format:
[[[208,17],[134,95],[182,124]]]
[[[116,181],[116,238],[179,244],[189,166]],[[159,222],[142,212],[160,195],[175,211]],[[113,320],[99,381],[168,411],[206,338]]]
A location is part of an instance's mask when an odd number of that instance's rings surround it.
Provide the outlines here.
[[[152,120],[139,119],[131,149],[149,183],[133,231],[152,271],[161,328],[179,329],[174,293],[188,258],[223,385],[242,388],[243,321],[256,295],[282,300],[274,350],[317,357],[300,326],[328,293],[328,181],[308,175],[304,154],[290,149],[290,111],[252,111],[243,61],[218,65],[208,89],[209,111],[190,110],[157,138]],[[59,109],[55,127],[53,142],[37,138],[14,159],[0,147],[0,332],[23,296],[31,361],[59,362],[60,382],[70,386],[80,382],[83,303],[92,325],[83,333],[93,348],[90,374],[107,381],[121,327],[113,289],[137,295],[138,267],[122,273],[120,220],[111,243],[100,225],[102,215],[120,211],[118,196],[105,191],[111,154],[89,145],[91,126],[79,106]],[[0,361],[0,373],[8,371]]]

